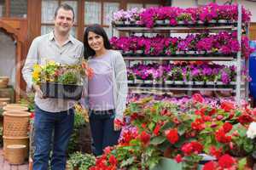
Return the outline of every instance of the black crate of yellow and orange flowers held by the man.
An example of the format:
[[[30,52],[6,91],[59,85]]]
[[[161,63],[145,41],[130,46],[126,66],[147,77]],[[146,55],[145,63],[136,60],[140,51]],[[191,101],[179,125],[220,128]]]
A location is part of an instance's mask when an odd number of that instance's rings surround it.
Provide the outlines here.
[[[80,99],[83,78],[92,77],[93,71],[83,61],[77,65],[61,65],[53,60],[45,65],[34,65],[32,82],[40,85],[44,97]]]

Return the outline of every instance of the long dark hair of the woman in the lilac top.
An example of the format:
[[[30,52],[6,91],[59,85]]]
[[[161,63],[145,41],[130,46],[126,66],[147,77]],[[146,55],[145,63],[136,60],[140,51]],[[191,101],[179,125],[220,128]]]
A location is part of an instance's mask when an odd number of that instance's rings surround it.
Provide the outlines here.
[[[95,51],[92,48],[90,48],[90,45],[88,43],[88,34],[90,31],[96,33],[97,35],[102,36],[103,42],[104,42],[104,47],[106,49],[111,49],[111,45],[108,40],[108,35],[107,35],[106,31],[104,31],[102,26],[100,26],[98,24],[88,26],[84,31],[84,58],[85,59],[88,59],[90,56],[93,56],[96,54]]]

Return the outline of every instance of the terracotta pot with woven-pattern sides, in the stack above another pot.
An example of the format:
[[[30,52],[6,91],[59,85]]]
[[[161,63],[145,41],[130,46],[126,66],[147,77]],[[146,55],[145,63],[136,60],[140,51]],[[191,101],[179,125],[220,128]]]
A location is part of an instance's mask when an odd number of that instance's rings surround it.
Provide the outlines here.
[[[30,113],[26,111],[3,112],[3,136],[27,137]]]

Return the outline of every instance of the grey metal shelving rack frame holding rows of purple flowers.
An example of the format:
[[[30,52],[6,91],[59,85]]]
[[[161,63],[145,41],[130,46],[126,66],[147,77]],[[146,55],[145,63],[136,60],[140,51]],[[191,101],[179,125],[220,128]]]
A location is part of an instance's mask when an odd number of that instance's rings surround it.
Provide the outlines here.
[[[237,40],[241,47],[241,31],[242,31],[242,23],[241,23],[241,4],[238,5],[238,20],[237,23],[230,23],[230,25],[226,26],[157,26],[154,28],[147,28],[142,26],[115,26],[112,25],[112,31],[113,29],[116,29],[117,31],[124,31],[128,33],[196,33],[201,31],[210,31],[210,32],[218,32],[218,31],[236,31],[237,32]],[[248,34],[248,26],[245,26],[245,29]],[[189,55],[189,56],[183,56],[183,55],[176,55],[176,56],[140,56],[140,55],[125,55],[124,59],[129,62],[133,60],[160,60],[160,61],[170,61],[170,60],[207,60],[207,61],[227,61],[227,62],[234,62],[236,65],[236,83],[233,85],[233,87],[230,88],[228,86],[227,88],[224,88],[224,86],[221,87],[193,87],[193,85],[189,85],[183,88],[180,87],[170,87],[170,86],[140,86],[140,84],[137,84],[137,86],[130,86],[130,89],[137,89],[137,90],[161,90],[161,91],[170,91],[170,90],[211,90],[211,91],[232,91],[236,94],[236,104],[241,105],[241,92],[243,92],[245,99],[248,99],[248,82],[241,82],[241,65],[242,62],[244,62],[246,68],[248,68],[248,59],[241,59],[241,48],[236,53],[236,55],[207,55],[207,56],[195,56],[195,55]]]

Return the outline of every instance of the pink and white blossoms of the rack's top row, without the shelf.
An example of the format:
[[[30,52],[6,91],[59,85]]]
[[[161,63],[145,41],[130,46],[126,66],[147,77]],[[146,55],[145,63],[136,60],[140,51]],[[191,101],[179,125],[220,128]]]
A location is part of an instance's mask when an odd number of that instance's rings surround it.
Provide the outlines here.
[[[244,7],[241,8],[242,22],[250,22],[251,13]],[[119,10],[113,13],[113,21],[117,20],[138,20],[139,25],[152,28],[155,26],[156,20],[169,20],[167,24],[177,26],[178,21],[183,21],[185,24],[191,22],[195,24],[200,20],[204,23],[212,20],[229,20],[236,22],[238,19],[238,5],[218,5],[217,3],[209,3],[205,6],[196,8],[177,8],[177,7],[151,7],[138,11],[131,9],[124,11]],[[190,24],[190,23],[189,23]]]

